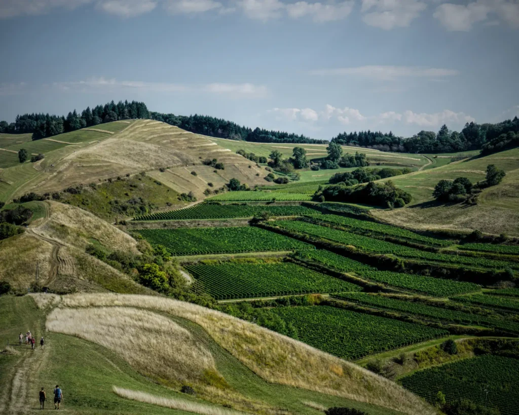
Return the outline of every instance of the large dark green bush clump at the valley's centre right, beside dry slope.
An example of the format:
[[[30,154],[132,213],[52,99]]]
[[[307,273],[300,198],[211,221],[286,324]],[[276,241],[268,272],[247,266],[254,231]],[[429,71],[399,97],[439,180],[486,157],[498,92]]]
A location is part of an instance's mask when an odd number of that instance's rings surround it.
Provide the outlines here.
[[[380,184],[370,182],[366,186],[327,186],[314,195],[316,200],[320,196],[324,196],[326,201],[365,203],[382,207],[393,207],[397,199],[402,199],[404,204],[412,200],[410,193],[399,189],[391,181]]]

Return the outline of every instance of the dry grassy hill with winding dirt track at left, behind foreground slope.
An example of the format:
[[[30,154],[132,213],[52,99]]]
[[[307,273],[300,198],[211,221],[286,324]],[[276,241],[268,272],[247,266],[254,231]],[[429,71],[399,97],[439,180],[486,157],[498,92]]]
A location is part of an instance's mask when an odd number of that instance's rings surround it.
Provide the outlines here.
[[[151,293],[125,274],[85,253],[98,241],[109,249],[138,253],[128,234],[77,207],[42,202],[46,215],[23,234],[0,241],[0,275],[19,292],[34,283],[39,268],[40,286],[57,292],[106,290]]]

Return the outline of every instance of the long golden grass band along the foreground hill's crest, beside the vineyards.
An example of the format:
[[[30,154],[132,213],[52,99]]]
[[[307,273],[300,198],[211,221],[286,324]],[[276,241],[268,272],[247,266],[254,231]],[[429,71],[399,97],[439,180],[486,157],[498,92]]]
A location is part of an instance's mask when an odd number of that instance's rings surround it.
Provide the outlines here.
[[[379,405],[404,413],[435,411],[399,385],[307,344],[214,310],[151,296],[77,294],[64,296],[68,307],[139,307],[193,321],[263,379]],[[57,329],[59,327],[57,325]]]

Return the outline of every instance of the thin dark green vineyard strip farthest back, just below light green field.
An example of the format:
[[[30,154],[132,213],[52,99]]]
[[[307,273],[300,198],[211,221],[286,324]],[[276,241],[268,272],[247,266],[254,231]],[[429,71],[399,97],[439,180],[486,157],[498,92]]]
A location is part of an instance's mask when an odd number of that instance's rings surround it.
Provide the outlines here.
[[[268,212],[271,216],[301,216],[319,214],[305,206],[265,206],[246,204],[202,203],[187,209],[137,216],[134,220],[189,220],[247,218]]]

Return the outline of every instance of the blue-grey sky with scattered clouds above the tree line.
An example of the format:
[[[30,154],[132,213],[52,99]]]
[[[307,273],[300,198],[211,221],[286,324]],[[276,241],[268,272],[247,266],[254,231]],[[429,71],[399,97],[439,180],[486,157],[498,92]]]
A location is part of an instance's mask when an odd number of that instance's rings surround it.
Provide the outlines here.
[[[0,0],[0,120],[114,100],[331,139],[519,115],[519,0]]]

